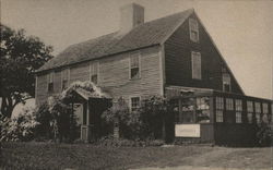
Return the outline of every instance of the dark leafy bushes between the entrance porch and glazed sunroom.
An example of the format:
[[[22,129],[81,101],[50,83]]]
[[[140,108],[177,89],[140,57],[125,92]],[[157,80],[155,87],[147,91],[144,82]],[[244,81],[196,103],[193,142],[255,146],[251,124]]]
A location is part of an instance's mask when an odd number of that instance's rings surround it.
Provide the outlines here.
[[[128,104],[119,98],[117,104],[102,114],[106,123],[119,129],[128,139],[165,138],[168,102],[161,96],[151,96],[141,108],[130,111]]]

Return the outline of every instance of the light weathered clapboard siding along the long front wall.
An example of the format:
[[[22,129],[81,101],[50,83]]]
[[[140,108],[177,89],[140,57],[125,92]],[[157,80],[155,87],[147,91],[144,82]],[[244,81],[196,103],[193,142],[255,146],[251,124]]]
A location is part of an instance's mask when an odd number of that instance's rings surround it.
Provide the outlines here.
[[[130,52],[88,61],[70,68],[70,84],[75,81],[90,81],[90,64],[98,64],[98,86],[106,89],[116,100],[123,97],[127,101],[132,96],[142,99],[150,95],[163,95],[161,48],[159,46],[139,50],[141,53],[141,78],[129,78]],[[55,72],[55,92],[47,92],[47,74],[37,76],[37,104],[47,100],[48,96],[61,92],[61,72]]]

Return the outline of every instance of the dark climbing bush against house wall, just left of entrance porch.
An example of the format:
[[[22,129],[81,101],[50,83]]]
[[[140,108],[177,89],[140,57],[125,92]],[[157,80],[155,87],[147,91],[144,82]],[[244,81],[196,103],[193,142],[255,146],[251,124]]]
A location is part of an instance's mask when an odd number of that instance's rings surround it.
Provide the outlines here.
[[[39,106],[36,112],[39,125],[36,137],[43,139],[57,139],[59,142],[73,142],[76,136],[76,118],[72,108],[62,101],[59,96],[51,98],[49,104]]]

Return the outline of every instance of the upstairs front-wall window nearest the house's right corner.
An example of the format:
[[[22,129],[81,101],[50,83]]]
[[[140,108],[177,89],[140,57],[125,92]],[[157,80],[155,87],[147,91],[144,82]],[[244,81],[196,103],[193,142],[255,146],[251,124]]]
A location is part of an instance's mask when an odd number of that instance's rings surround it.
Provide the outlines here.
[[[130,54],[130,78],[140,78],[140,52]]]

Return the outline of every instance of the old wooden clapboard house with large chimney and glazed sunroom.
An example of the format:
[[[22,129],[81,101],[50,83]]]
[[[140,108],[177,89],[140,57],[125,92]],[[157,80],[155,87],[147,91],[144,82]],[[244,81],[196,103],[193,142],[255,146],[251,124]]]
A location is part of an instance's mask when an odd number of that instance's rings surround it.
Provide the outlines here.
[[[150,22],[139,4],[120,11],[118,32],[72,45],[36,72],[37,105],[91,81],[112,101],[122,96],[131,110],[151,95],[167,97],[175,117],[169,135],[185,139],[248,143],[257,123],[271,121],[272,100],[244,94],[193,9]],[[105,100],[79,95],[81,137],[90,139]]]

